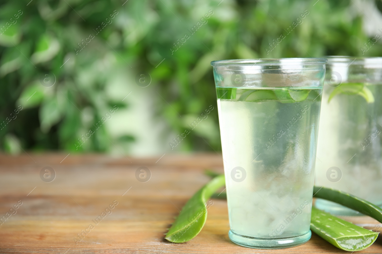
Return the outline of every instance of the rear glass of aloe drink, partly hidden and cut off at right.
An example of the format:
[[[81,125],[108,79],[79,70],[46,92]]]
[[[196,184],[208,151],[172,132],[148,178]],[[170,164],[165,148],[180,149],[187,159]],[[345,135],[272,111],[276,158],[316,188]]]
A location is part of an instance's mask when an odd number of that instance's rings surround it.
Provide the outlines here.
[[[382,205],[382,58],[327,57],[316,185]],[[327,200],[333,214],[359,212]]]

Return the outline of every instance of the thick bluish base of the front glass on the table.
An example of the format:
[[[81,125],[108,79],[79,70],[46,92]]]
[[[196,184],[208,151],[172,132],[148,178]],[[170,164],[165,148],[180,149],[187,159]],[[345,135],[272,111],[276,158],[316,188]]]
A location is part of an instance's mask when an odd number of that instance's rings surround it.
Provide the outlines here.
[[[256,249],[282,249],[306,243],[311,238],[312,232],[309,230],[309,232],[304,235],[284,238],[257,238],[238,235],[230,230],[228,236],[231,241],[244,247]]]

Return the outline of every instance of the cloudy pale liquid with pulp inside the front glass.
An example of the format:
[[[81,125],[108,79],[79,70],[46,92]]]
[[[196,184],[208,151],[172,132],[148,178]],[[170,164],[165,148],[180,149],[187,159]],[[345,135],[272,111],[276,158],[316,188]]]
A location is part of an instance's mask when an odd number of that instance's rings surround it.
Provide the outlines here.
[[[236,89],[236,96],[246,91]],[[224,168],[246,171],[246,181],[226,178],[231,230],[240,235],[309,232],[320,89],[293,91],[312,96],[290,103],[218,99]]]

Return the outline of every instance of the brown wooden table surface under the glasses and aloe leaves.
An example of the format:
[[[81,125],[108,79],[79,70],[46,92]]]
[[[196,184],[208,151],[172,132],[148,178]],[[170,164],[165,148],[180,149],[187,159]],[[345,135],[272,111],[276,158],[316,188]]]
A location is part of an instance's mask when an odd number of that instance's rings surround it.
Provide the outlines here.
[[[209,181],[204,169],[223,172],[217,154],[165,154],[159,161],[28,154],[0,155],[0,216],[11,212],[0,225],[0,253],[351,253],[314,233],[308,243],[293,248],[238,246],[228,238],[224,200],[212,200],[206,225],[193,240],[166,241],[163,234],[179,209]],[[40,178],[46,166],[56,173],[51,182]],[[136,179],[140,166],[151,171],[149,181]],[[14,205],[18,209],[11,210]],[[96,224],[98,216],[102,220]],[[360,253],[382,253],[382,237]]]

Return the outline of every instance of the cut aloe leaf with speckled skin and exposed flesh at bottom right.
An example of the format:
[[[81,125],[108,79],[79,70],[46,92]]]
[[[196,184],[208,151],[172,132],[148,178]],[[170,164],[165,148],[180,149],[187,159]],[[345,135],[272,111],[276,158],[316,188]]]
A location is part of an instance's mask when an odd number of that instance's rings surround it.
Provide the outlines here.
[[[377,240],[379,234],[314,207],[312,207],[311,230],[344,251],[366,249]]]

